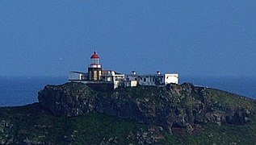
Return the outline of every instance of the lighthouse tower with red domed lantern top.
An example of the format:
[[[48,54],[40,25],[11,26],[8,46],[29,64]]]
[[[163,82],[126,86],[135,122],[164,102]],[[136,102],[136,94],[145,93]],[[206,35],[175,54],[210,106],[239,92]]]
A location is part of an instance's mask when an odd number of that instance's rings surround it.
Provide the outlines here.
[[[99,64],[99,55],[94,52],[94,54],[90,56],[90,65],[88,67],[88,80],[100,81],[102,72],[103,69],[101,67],[101,64]]]

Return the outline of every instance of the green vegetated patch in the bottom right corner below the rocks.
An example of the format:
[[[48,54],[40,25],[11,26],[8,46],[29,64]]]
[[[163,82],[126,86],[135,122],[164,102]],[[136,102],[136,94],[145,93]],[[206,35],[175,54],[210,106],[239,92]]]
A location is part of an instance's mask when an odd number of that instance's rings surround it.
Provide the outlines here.
[[[204,124],[199,131],[189,135],[166,135],[170,144],[255,144],[256,118],[246,125]]]

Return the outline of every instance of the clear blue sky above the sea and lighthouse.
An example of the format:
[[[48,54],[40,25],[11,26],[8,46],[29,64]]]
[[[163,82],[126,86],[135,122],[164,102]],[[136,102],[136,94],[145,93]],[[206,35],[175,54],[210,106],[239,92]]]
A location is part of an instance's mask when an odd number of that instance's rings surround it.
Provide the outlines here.
[[[0,1],[0,75],[256,76],[256,1]]]

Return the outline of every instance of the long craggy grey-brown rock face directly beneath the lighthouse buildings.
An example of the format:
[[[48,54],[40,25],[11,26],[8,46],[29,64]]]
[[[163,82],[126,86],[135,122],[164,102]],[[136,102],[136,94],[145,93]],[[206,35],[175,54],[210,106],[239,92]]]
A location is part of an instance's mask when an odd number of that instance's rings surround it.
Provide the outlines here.
[[[170,132],[172,127],[192,132],[194,126],[206,122],[244,124],[251,114],[246,107],[216,102],[207,88],[189,83],[120,88],[111,93],[94,91],[82,83],[47,85],[38,99],[55,115],[72,117],[99,112],[163,126]]]

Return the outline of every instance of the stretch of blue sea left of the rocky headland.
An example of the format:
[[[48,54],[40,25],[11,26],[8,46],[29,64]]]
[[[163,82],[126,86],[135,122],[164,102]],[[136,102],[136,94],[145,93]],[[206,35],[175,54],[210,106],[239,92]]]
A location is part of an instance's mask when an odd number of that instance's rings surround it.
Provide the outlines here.
[[[0,106],[23,106],[38,102],[45,85],[61,85],[68,77],[0,77]]]

